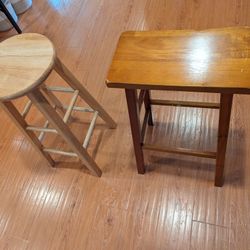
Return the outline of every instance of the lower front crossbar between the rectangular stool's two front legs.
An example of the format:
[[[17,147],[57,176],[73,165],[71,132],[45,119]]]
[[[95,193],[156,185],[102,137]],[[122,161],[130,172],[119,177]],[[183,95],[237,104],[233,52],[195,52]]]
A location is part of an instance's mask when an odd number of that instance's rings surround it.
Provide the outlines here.
[[[208,152],[208,151],[201,152],[186,148],[169,148],[162,145],[153,145],[153,144],[144,144],[142,148],[145,150],[153,150],[153,151],[216,159],[216,152]]]

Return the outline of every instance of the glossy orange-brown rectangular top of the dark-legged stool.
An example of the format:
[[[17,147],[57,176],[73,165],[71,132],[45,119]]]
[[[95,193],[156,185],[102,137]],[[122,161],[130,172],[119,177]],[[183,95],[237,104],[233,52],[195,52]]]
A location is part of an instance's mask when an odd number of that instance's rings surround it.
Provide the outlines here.
[[[250,28],[124,32],[111,88],[250,93]]]

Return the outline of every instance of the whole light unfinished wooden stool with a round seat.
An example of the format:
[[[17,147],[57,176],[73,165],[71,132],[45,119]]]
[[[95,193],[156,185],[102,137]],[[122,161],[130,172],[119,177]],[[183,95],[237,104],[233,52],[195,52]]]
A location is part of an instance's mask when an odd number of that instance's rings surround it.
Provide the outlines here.
[[[52,70],[55,70],[70,88],[46,86],[44,81]],[[52,91],[72,93],[70,104],[63,105]],[[23,112],[19,113],[11,101],[24,95],[29,98],[29,102]],[[78,95],[90,108],[75,106]],[[47,119],[42,128],[30,126],[25,120],[32,104]],[[0,43],[0,105],[51,166],[54,166],[54,161],[49,153],[74,156],[79,157],[94,175],[101,176],[101,170],[87,152],[88,142],[98,115],[110,128],[115,128],[116,123],[63,65],[48,38],[40,34],[22,34]],[[66,110],[63,118],[55,108]],[[66,124],[73,110],[93,113],[93,120],[83,145]],[[53,129],[48,128],[49,124]],[[39,137],[34,131],[40,132]],[[58,133],[70,146],[72,152],[45,148],[41,143],[44,133]]]

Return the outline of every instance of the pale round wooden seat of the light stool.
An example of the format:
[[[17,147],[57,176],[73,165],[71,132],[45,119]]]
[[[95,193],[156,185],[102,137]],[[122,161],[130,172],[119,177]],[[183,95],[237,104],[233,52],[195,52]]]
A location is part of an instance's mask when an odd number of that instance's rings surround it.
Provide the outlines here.
[[[55,49],[45,36],[26,33],[0,43],[0,101],[25,95],[49,75]]]

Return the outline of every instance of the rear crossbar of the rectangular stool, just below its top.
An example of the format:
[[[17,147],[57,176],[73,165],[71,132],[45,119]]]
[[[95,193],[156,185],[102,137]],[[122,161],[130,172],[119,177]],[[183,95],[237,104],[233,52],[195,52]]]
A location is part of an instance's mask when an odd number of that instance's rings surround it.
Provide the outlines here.
[[[192,107],[192,108],[210,108],[210,109],[219,109],[220,108],[220,103],[170,101],[170,100],[160,100],[160,99],[151,99],[150,104],[151,105],[161,105],[161,106]]]

